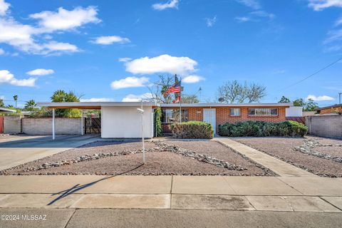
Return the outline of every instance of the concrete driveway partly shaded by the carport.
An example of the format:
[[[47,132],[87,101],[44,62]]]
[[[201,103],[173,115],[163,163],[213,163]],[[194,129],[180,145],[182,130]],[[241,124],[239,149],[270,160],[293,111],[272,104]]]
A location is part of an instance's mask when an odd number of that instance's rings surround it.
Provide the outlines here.
[[[99,140],[99,135],[0,136],[0,170]]]

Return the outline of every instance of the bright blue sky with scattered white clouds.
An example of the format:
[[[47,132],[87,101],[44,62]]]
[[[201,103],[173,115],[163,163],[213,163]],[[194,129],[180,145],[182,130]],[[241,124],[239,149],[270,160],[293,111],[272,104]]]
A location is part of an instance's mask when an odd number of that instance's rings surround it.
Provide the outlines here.
[[[159,74],[178,73],[187,94],[214,100],[226,81],[338,103],[342,0],[0,0],[0,98],[135,100]]]

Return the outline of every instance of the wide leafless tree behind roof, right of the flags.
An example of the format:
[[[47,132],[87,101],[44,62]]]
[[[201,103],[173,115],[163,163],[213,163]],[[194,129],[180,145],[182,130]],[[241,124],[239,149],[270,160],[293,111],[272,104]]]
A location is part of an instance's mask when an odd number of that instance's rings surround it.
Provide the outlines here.
[[[239,83],[238,81],[229,81],[217,89],[219,98],[224,103],[252,103],[259,102],[266,95],[266,87],[257,83]]]

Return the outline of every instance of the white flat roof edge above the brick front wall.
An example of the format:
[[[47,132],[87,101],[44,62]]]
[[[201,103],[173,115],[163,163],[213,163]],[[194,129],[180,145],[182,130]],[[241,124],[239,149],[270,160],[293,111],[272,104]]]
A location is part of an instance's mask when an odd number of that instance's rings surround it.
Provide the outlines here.
[[[289,107],[293,106],[293,103],[182,103],[182,107]],[[180,107],[179,103],[172,104],[160,104],[160,107],[177,108]]]

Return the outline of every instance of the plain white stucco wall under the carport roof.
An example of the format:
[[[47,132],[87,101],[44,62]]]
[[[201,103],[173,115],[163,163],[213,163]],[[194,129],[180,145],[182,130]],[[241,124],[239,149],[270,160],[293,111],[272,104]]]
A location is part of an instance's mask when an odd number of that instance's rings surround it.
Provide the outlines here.
[[[141,117],[137,108],[110,107],[101,108],[102,138],[141,138]],[[144,137],[152,138],[152,107],[144,106]]]

